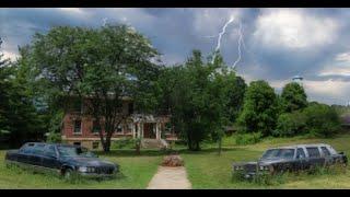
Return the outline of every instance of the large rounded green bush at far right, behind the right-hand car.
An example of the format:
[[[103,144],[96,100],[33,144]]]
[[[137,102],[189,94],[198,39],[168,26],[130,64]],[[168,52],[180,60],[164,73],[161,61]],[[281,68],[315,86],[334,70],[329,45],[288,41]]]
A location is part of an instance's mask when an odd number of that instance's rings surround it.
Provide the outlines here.
[[[337,112],[328,105],[313,103],[305,109],[308,132],[320,137],[331,137],[340,129]]]

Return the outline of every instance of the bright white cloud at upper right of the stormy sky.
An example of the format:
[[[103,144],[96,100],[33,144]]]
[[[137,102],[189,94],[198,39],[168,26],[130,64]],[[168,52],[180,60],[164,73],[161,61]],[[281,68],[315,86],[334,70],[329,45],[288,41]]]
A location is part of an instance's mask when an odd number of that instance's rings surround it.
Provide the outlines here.
[[[291,49],[331,44],[339,26],[331,18],[311,15],[302,9],[262,9],[255,25],[254,38],[264,46]]]

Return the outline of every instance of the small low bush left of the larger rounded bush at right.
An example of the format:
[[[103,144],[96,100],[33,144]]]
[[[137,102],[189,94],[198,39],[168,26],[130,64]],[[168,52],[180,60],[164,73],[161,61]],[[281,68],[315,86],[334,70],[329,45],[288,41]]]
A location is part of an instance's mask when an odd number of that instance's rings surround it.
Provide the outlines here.
[[[293,112],[281,114],[277,120],[272,136],[292,137],[302,134],[306,128],[306,117],[303,113]]]

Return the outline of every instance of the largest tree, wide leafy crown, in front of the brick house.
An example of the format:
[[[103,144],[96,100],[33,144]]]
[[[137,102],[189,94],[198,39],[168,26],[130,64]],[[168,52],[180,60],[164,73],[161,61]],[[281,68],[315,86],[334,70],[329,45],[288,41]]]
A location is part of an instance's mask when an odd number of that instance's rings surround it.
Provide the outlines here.
[[[61,105],[62,97],[89,99],[85,115],[104,128],[100,138],[104,151],[126,119],[122,99],[135,99],[139,111],[150,111],[158,51],[150,40],[126,25],[101,28],[59,26],[36,34],[30,46],[35,79],[48,86],[46,93]],[[144,101],[141,101],[144,100]]]

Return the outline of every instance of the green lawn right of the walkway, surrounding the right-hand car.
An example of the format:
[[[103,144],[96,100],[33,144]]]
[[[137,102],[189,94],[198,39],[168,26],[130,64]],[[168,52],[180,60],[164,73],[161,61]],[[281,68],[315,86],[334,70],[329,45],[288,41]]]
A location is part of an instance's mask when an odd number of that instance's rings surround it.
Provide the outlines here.
[[[272,138],[250,146],[235,146],[234,137],[228,137],[220,157],[214,144],[206,146],[200,152],[184,151],[182,157],[194,188],[350,188],[349,167],[342,173],[288,175],[271,185],[232,181],[231,164],[234,161],[256,161],[271,147],[313,142],[329,143],[337,151],[350,154],[350,135],[341,135],[334,139]]]

